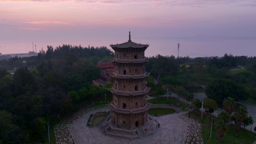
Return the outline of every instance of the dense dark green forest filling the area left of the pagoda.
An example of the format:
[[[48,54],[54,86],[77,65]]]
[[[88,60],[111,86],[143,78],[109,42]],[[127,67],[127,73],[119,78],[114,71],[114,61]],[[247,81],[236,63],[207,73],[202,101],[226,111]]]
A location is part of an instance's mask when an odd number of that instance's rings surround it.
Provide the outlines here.
[[[100,76],[97,61],[112,57],[106,47],[63,45],[48,46],[38,56],[0,61],[0,144],[44,142],[52,116],[107,92],[92,80]],[[21,67],[24,60],[27,67]]]

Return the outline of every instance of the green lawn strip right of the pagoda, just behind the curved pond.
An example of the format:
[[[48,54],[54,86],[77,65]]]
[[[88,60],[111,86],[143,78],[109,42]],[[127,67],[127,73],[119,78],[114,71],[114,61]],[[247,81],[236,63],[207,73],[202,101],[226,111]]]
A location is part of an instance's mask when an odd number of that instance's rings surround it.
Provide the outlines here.
[[[153,98],[147,100],[147,102],[151,102],[152,104],[176,104],[177,98],[168,98],[168,100],[167,98]],[[187,108],[189,106],[188,104],[182,101],[178,101],[178,103],[180,104],[179,107],[182,108]]]

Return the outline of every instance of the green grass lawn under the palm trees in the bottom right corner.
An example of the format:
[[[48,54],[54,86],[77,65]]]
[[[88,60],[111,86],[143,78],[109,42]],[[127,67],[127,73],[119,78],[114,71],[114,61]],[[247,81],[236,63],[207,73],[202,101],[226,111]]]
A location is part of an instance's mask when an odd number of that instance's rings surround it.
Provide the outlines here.
[[[216,127],[214,123],[217,122],[217,117],[211,116],[210,114],[203,114],[203,119],[201,119],[200,112],[191,113],[191,117],[197,119],[201,123],[202,136],[204,138],[204,144],[218,144]],[[213,129],[210,138],[210,128],[211,128],[211,118],[213,118]],[[252,144],[256,140],[255,133],[250,132],[246,129],[241,128],[238,131],[238,136],[235,136],[236,126],[229,125],[228,133],[224,136],[221,144],[232,144],[235,141],[239,141],[241,144]]]

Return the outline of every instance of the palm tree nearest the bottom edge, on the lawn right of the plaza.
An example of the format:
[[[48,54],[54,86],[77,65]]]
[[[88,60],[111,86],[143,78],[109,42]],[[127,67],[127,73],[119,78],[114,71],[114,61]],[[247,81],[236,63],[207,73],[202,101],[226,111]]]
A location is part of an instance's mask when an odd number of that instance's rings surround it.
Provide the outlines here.
[[[228,126],[223,120],[220,120],[216,123],[217,126],[217,140],[219,144],[222,142],[222,138],[227,134],[228,132]]]

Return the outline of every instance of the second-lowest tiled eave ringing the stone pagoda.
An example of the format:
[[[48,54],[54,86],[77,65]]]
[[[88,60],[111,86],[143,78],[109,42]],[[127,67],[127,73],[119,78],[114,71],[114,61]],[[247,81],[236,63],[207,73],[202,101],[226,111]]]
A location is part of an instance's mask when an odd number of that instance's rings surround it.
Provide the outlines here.
[[[124,96],[136,96],[136,95],[144,95],[147,94],[150,91],[151,88],[146,87],[145,89],[141,91],[118,91],[115,88],[110,88],[109,91],[112,94],[116,95],[124,95]]]

